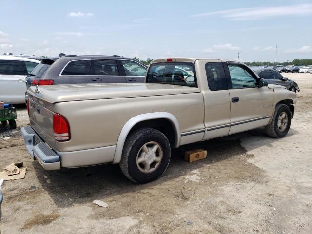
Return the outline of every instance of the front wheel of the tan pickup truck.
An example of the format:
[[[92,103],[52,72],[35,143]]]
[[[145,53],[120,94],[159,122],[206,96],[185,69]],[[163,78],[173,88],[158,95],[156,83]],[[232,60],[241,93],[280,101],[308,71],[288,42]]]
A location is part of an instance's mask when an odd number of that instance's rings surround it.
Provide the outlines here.
[[[282,117],[282,114],[284,114],[286,118]],[[277,104],[275,107],[273,119],[271,123],[265,126],[265,131],[269,137],[274,138],[284,137],[289,131],[291,122],[292,122],[292,114],[289,107],[285,104]],[[278,124],[281,125],[278,126]]]

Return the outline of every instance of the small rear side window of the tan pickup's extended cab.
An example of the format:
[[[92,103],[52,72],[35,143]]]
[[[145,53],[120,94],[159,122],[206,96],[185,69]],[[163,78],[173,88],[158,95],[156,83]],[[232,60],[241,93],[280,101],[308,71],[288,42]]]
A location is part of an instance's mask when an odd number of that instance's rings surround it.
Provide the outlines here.
[[[205,69],[208,87],[211,91],[228,89],[222,62],[208,62]]]

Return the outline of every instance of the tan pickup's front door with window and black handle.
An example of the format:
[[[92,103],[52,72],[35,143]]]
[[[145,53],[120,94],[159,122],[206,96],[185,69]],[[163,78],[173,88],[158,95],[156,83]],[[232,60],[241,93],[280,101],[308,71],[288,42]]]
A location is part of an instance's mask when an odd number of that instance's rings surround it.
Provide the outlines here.
[[[274,109],[273,90],[266,86],[259,88],[258,78],[247,66],[235,62],[226,64],[226,74],[231,81],[229,134],[268,124]]]

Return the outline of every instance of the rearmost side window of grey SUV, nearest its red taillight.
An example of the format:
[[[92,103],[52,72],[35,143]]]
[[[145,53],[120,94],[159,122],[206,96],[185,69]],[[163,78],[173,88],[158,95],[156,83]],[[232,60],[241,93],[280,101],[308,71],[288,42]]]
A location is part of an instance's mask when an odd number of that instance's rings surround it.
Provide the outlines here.
[[[91,60],[71,61],[63,70],[63,76],[89,76]]]

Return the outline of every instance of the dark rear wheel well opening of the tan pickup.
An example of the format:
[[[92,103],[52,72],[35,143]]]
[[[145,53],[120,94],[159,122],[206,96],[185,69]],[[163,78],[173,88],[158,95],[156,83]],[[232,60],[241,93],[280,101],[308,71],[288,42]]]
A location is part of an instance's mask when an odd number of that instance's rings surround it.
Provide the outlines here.
[[[149,119],[149,120],[141,121],[132,127],[128,135],[130,135],[132,132],[136,131],[139,128],[146,128],[146,127],[154,128],[162,132],[168,138],[170,146],[173,147],[175,145],[175,141],[176,141],[175,132],[176,131],[172,123],[166,118]]]

